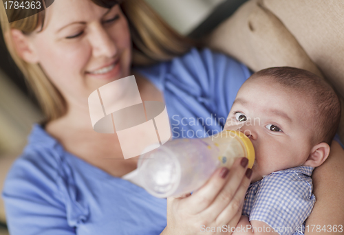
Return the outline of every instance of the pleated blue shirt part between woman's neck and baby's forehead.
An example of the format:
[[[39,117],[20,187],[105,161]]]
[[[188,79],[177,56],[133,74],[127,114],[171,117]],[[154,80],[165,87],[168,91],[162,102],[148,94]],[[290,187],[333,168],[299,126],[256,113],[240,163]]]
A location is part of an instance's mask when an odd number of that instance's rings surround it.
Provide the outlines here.
[[[169,62],[136,70],[164,93],[173,137],[196,137],[183,135],[183,128],[204,134],[197,137],[222,131],[237,91],[252,74],[233,58],[195,48]]]

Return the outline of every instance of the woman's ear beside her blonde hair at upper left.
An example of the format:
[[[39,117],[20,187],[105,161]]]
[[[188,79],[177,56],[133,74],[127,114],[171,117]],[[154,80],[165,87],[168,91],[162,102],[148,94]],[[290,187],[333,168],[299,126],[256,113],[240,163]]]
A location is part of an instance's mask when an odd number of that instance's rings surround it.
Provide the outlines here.
[[[38,63],[38,57],[28,36],[25,36],[20,30],[14,29],[10,30],[10,34],[12,34],[12,43],[17,54],[27,63]]]

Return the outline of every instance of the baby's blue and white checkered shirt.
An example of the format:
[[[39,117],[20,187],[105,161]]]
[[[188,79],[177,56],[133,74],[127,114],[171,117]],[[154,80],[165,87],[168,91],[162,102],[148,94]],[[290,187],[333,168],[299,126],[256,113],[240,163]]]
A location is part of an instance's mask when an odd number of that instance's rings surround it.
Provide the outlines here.
[[[242,214],[249,221],[267,223],[281,235],[304,234],[305,219],[315,203],[310,177],[313,169],[298,166],[279,170],[252,183],[246,192]]]

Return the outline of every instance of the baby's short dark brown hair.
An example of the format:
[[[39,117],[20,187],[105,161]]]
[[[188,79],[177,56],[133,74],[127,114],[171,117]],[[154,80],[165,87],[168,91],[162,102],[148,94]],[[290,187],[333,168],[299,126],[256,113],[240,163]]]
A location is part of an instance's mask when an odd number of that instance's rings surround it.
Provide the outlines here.
[[[250,79],[272,78],[282,87],[291,89],[312,100],[315,144],[331,144],[341,118],[341,104],[332,87],[319,76],[294,67],[272,67],[257,71]]]

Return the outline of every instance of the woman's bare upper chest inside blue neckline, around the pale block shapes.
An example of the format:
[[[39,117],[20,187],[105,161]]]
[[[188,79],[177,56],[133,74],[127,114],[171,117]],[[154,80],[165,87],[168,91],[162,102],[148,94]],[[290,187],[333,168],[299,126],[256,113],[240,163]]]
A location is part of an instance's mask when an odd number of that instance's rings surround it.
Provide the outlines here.
[[[142,100],[163,102],[162,94],[151,82],[136,76]],[[89,164],[116,177],[136,168],[138,157],[124,159],[116,133],[102,134],[93,130],[87,104],[69,104],[66,115],[49,122],[46,131],[63,145],[65,150]]]

